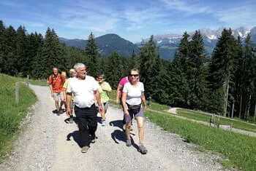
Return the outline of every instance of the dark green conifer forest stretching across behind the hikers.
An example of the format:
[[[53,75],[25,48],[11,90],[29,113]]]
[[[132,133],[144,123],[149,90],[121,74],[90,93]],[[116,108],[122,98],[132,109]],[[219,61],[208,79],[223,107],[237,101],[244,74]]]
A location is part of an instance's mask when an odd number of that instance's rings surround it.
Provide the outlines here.
[[[145,84],[146,98],[168,106],[255,120],[256,61],[250,35],[242,45],[240,37],[224,29],[210,59],[204,56],[200,31],[190,36],[191,41],[184,33],[172,62],[160,59],[153,36],[142,45],[139,55],[133,51],[132,57],[120,57],[111,52],[101,57],[93,33],[83,50],[61,44],[54,29],[48,28],[43,37],[41,33],[26,33],[22,26],[15,30],[0,21],[0,71],[45,79],[53,67],[68,71],[81,62],[91,76],[104,73],[115,89],[121,77],[136,67]]]

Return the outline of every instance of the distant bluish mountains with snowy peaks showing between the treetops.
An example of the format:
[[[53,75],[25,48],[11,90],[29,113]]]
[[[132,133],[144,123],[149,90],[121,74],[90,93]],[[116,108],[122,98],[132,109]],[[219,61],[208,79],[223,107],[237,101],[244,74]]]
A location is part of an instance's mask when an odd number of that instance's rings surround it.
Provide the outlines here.
[[[203,43],[206,49],[206,55],[211,55],[214,47],[217,44],[218,37],[221,36],[221,33],[224,28],[219,28],[217,30],[211,30],[209,28],[199,29],[200,33],[203,35]],[[236,28],[233,29],[233,35],[235,37],[241,36],[242,41],[246,38],[247,34],[250,33],[252,41],[256,47],[256,27],[249,30],[248,28]],[[188,33],[189,40],[192,39],[192,35],[195,33]],[[154,41],[157,42],[157,47],[159,47],[160,57],[165,60],[172,60],[174,53],[182,39],[182,35],[179,34],[165,34],[165,35],[156,35],[154,36]],[[87,40],[83,39],[65,39],[59,38],[61,43],[66,44],[69,47],[78,47],[84,49],[87,44]],[[132,55],[132,50],[135,50],[136,54],[140,52],[141,43],[133,44],[131,41],[121,38],[117,34],[105,34],[104,36],[99,36],[95,38],[98,52],[100,55],[107,57],[111,52],[118,52],[119,55],[130,57]],[[148,41],[145,39],[144,41]]]

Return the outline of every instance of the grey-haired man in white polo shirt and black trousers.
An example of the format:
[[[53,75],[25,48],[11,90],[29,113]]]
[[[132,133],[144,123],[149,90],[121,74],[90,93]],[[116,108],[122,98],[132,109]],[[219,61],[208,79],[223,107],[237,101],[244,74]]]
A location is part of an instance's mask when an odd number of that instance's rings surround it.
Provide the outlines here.
[[[77,76],[69,80],[67,86],[67,114],[71,115],[70,102],[74,94],[75,116],[78,122],[81,152],[89,150],[90,143],[95,143],[97,130],[97,111],[94,103],[96,97],[99,112],[102,113],[102,103],[98,90],[98,83],[92,76],[86,75],[86,65],[76,63],[74,65]]]

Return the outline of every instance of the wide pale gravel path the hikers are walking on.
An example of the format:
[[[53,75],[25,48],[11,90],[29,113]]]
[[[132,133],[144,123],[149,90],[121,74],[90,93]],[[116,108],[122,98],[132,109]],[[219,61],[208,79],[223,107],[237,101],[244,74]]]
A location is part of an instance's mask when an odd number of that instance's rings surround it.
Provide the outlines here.
[[[97,142],[82,154],[78,127],[65,122],[65,114],[53,114],[49,88],[33,85],[31,88],[39,101],[11,159],[0,164],[0,170],[223,170],[217,162],[219,156],[198,151],[199,147],[184,143],[180,136],[161,130],[147,119],[144,144],[148,154],[137,151],[136,122],[133,146],[127,147],[121,130],[122,111],[115,106],[110,106],[107,126],[98,124]]]

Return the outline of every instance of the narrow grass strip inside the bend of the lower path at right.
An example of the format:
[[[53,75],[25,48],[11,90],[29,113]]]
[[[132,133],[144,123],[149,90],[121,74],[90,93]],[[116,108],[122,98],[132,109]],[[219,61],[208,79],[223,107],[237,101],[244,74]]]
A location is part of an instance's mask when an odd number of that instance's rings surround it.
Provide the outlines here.
[[[211,115],[203,114],[200,111],[191,111],[187,109],[178,109],[177,113],[179,116],[184,116],[189,119],[195,119],[203,122],[209,122],[211,119]],[[230,122],[233,124],[233,128],[256,132],[256,125],[254,124],[248,124],[246,122],[242,122],[241,120],[230,120],[226,118],[220,118],[219,120],[216,119],[217,123],[219,124],[225,124],[230,125]]]

